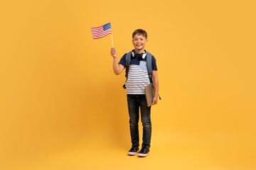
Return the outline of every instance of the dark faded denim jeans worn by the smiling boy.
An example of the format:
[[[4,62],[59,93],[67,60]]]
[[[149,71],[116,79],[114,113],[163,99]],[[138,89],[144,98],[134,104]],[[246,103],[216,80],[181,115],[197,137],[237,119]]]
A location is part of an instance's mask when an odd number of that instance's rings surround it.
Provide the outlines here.
[[[143,137],[142,147],[150,147],[151,141],[151,106],[146,105],[144,94],[127,94],[129,110],[129,127],[132,138],[132,146],[139,146],[139,108],[142,116]]]

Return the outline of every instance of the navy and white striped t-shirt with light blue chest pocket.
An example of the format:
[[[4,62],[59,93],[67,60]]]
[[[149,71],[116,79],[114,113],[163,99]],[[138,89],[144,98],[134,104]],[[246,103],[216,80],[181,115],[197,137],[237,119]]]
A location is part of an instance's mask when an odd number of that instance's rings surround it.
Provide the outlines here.
[[[126,66],[125,54],[119,64]],[[157,70],[156,59],[152,56],[152,70]],[[127,94],[145,94],[144,87],[149,85],[149,74],[146,69],[146,57],[144,60],[139,60],[139,55],[131,57],[131,63],[129,65],[128,79],[125,84],[127,88]]]

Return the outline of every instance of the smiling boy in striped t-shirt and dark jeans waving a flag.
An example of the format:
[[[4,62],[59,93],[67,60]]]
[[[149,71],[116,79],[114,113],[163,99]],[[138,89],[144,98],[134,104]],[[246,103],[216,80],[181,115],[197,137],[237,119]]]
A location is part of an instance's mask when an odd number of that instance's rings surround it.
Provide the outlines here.
[[[132,138],[132,148],[129,150],[129,155],[136,155],[139,152],[139,157],[146,157],[149,154],[149,147],[151,141],[151,106],[146,104],[146,96],[144,87],[150,84],[149,74],[146,69],[146,50],[144,49],[148,42],[147,33],[145,30],[137,29],[132,33],[132,50],[131,60],[129,65],[129,72],[127,75],[127,82],[125,84],[127,89],[127,103],[129,110],[129,127]],[[119,63],[117,63],[117,51],[112,47],[111,55],[113,57],[114,74],[121,74],[126,67],[125,54]],[[156,59],[152,56],[152,77],[151,81],[154,86],[154,98],[152,105],[157,103],[159,94],[159,82],[157,77]],[[139,108],[142,116],[143,125],[143,143],[142,149],[139,151]]]

